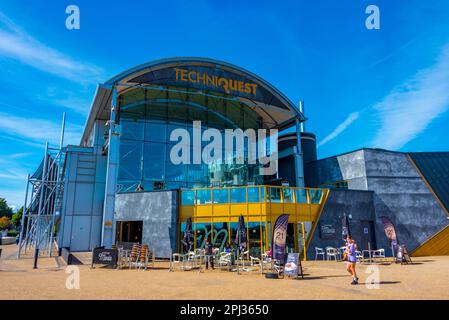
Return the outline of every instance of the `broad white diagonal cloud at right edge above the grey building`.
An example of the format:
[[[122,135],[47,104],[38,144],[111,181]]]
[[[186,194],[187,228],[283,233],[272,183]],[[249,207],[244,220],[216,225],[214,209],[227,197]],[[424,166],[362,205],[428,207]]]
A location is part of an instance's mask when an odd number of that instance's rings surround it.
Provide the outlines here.
[[[449,108],[449,45],[436,63],[417,72],[374,106],[380,128],[374,147],[397,150]]]

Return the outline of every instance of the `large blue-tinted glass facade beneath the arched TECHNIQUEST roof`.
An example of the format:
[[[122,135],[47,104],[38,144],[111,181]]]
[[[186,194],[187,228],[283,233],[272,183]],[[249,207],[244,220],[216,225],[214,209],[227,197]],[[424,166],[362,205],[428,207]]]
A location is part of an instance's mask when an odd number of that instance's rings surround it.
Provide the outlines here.
[[[244,164],[173,164],[170,151],[178,142],[170,141],[170,134],[183,128],[192,139],[193,121],[201,121],[202,131],[208,128],[221,131],[223,155],[224,129],[262,128],[257,112],[226,94],[168,86],[121,93],[118,191],[135,191],[139,184],[144,190],[161,190],[263,183],[259,167],[248,164],[246,141]],[[208,143],[202,142],[202,148]],[[201,152],[190,150],[191,154]],[[235,150],[231,155],[235,157]]]

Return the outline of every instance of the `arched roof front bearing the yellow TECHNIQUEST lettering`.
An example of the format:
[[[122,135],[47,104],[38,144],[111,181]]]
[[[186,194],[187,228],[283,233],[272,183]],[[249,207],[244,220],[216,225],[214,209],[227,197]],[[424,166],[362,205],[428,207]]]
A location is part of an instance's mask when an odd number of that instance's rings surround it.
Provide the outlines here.
[[[305,120],[290,99],[268,81],[244,68],[209,58],[175,57],[130,68],[101,84],[86,123],[83,141],[95,119],[109,118],[112,88],[120,94],[130,87],[147,85],[185,86],[196,88],[198,92],[226,93],[257,111],[268,128],[283,129],[291,126],[297,118]],[[231,92],[229,88],[232,87],[235,90]]]

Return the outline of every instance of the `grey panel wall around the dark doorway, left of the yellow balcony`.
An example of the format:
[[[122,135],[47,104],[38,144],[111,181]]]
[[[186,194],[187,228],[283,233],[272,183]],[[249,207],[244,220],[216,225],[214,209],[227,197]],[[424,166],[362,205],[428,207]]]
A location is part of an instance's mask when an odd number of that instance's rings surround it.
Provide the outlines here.
[[[116,221],[143,221],[142,242],[157,257],[169,258],[177,250],[178,192],[119,193],[115,198]]]

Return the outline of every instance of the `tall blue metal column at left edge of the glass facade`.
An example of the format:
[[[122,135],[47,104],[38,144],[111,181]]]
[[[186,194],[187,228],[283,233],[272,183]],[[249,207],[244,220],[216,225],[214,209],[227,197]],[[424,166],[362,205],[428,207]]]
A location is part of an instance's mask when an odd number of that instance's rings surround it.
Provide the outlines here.
[[[116,124],[117,115],[117,89],[112,89],[111,118],[109,120],[109,147],[108,164],[106,168],[106,186],[103,205],[103,226],[101,232],[101,245],[110,248],[114,241],[114,211],[115,193],[117,188],[117,172],[119,158],[120,132]]]

